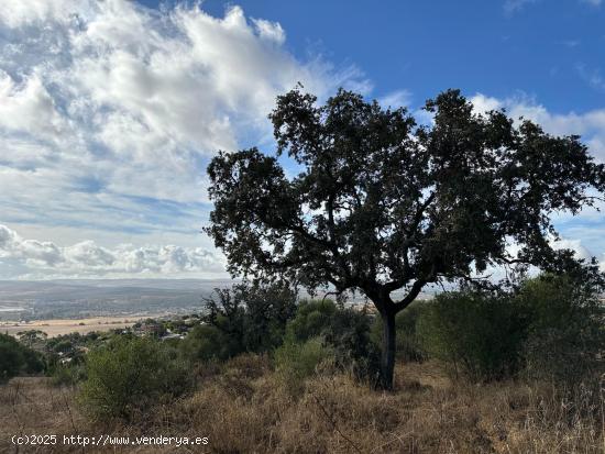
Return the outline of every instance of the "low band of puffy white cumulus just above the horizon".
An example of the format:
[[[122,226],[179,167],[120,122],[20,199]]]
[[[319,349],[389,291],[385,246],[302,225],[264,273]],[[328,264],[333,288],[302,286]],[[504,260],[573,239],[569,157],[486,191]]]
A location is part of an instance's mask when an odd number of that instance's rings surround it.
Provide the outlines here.
[[[2,278],[224,275],[222,257],[201,247],[121,244],[108,248],[94,241],[58,246],[53,242],[25,240],[0,224],[0,264],[4,262],[26,272],[22,276],[0,273]]]

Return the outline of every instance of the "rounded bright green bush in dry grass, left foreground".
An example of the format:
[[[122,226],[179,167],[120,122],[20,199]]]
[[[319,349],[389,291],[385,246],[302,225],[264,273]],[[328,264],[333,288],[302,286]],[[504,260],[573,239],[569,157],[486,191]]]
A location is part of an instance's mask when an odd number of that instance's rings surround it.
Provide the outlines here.
[[[151,339],[112,339],[88,354],[86,375],[79,402],[97,419],[132,419],[190,386],[187,366],[176,352]]]

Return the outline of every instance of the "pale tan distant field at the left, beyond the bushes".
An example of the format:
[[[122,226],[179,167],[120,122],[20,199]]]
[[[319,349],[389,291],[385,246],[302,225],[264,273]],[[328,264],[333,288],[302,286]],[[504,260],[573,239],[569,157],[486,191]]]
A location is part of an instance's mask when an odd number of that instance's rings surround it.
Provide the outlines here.
[[[164,314],[165,315],[165,314]],[[15,335],[20,331],[40,330],[55,337],[68,333],[89,333],[91,331],[108,331],[117,328],[132,326],[139,320],[156,315],[134,317],[95,317],[90,319],[56,319],[35,320],[31,322],[0,322],[0,332]]]

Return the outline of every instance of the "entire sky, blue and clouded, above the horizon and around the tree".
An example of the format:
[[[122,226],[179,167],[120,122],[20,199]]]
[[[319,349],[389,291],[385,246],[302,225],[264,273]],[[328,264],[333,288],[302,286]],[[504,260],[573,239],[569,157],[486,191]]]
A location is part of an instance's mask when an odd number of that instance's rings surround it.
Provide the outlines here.
[[[271,151],[297,81],[411,111],[461,88],[605,160],[605,1],[7,1],[0,278],[223,276],[205,167]],[[601,213],[557,225],[604,258]]]

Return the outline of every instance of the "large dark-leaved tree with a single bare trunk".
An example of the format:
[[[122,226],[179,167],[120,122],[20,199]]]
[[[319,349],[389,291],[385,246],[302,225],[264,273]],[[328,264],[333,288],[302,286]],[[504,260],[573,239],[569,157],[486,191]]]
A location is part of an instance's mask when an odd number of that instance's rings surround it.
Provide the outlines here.
[[[594,203],[591,189],[605,190],[604,166],[578,136],[516,125],[504,111],[475,113],[459,90],[425,109],[428,126],[351,91],[318,106],[297,88],[270,115],[277,156],[221,152],[208,167],[215,209],[206,232],[230,273],[361,290],[383,319],[387,389],[395,314],[427,284],[481,283],[488,266],[579,269],[572,251],[551,247],[550,215],[575,214]],[[297,175],[286,175],[283,154]]]

